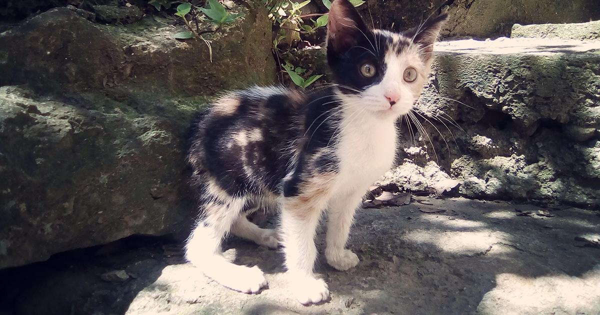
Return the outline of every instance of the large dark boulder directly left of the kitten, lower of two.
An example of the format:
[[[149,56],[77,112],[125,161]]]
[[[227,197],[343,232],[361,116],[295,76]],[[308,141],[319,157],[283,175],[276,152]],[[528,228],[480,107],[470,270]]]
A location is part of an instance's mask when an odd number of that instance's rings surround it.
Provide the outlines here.
[[[157,101],[0,88],[0,269],[188,226],[184,138],[205,101]]]

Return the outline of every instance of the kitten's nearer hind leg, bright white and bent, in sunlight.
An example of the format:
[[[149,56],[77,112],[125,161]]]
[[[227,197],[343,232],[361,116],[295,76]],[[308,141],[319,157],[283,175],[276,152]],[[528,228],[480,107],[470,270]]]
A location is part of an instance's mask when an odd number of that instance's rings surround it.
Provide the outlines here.
[[[208,202],[205,216],[197,223],[185,244],[185,257],[212,278],[230,289],[257,293],[267,285],[263,272],[257,267],[239,266],[223,257],[221,241],[241,215],[243,198],[229,202]]]

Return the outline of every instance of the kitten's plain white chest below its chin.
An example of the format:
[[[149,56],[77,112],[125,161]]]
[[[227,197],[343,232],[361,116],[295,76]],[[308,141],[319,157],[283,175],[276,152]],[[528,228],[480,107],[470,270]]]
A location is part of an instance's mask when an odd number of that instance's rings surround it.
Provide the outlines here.
[[[340,180],[344,185],[370,185],[394,164],[396,128],[391,121],[361,119],[340,133]]]

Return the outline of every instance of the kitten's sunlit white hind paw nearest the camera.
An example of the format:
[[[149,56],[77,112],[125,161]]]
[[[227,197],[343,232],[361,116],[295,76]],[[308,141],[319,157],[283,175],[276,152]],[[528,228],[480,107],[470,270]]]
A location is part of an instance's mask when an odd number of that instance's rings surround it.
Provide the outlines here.
[[[215,277],[214,280],[223,284],[223,286],[229,287],[239,292],[244,293],[257,293],[263,287],[267,286],[265,275],[258,268],[254,266],[248,268],[246,266],[236,266],[235,271],[224,274],[223,277]]]

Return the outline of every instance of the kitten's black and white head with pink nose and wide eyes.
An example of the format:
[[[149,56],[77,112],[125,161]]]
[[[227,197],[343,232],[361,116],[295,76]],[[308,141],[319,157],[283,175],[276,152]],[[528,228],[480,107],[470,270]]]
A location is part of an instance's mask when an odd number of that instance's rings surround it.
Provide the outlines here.
[[[350,104],[376,115],[397,118],[421,95],[433,61],[433,43],[446,14],[395,33],[369,29],[348,0],[329,10],[327,59],[336,83]]]

